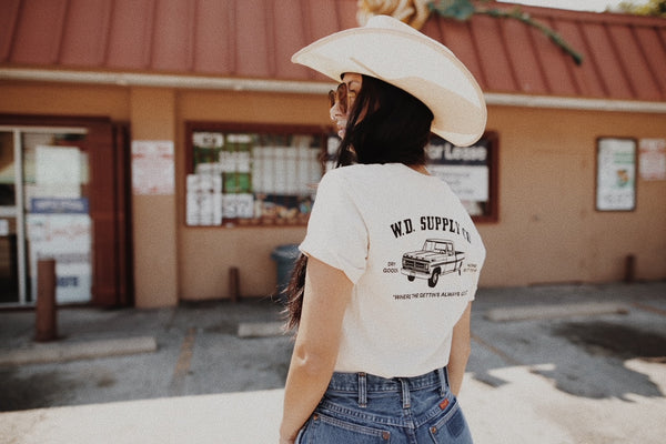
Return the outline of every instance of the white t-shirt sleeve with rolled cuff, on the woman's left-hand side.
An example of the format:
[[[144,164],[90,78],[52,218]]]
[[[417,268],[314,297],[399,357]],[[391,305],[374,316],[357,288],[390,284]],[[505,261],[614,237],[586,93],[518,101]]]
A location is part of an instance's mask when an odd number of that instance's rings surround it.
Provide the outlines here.
[[[355,284],[365,272],[367,246],[365,222],[344,178],[336,170],[324,174],[301,251],[343,271]]]

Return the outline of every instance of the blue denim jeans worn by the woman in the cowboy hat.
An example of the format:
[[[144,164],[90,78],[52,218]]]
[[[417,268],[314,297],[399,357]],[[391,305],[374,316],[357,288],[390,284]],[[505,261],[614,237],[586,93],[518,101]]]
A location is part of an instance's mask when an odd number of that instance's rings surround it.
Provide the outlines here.
[[[387,380],[334,373],[296,444],[470,444],[446,369]]]

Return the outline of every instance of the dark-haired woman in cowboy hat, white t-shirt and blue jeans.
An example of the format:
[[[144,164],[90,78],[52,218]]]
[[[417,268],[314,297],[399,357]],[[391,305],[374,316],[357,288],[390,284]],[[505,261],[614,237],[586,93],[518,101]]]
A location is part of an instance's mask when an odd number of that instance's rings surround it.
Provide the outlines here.
[[[332,110],[346,120],[344,168],[317,188],[291,286],[281,443],[470,443],[455,395],[485,249],[425,147],[431,131],[481,137],[481,89],[445,47],[387,17],[292,60],[342,79],[347,109]]]

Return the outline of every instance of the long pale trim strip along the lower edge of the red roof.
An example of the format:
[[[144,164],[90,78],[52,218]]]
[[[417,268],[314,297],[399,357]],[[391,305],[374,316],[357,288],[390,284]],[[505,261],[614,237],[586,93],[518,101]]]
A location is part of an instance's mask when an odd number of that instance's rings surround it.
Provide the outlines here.
[[[310,82],[300,80],[287,81],[269,79],[235,79],[178,74],[60,71],[18,68],[0,68],[0,80],[112,84],[118,87],[210,89],[300,94],[325,94],[333,85],[333,83],[331,82]],[[500,107],[666,113],[666,102],[504,94],[493,92],[485,92],[484,97],[488,105]]]

